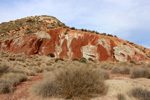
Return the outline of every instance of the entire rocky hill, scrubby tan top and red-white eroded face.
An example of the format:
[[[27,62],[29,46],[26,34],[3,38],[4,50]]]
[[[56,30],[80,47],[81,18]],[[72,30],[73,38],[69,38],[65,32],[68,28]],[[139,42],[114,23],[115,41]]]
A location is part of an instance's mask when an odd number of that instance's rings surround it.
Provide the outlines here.
[[[0,24],[0,50],[57,58],[99,61],[149,60],[150,50],[110,34],[65,26],[55,17],[36,16]]]

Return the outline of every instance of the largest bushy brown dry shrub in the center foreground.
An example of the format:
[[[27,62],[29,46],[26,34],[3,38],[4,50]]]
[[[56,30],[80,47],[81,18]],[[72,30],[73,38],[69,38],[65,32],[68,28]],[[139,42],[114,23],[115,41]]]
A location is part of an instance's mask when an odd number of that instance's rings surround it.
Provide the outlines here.
[[[51,77],[50,77],[51,76]],[[104,80],[92,68],[70,67],[56,70],[39,84],[33,86],[33,93],[41,97],[87,98],[107,93]]]

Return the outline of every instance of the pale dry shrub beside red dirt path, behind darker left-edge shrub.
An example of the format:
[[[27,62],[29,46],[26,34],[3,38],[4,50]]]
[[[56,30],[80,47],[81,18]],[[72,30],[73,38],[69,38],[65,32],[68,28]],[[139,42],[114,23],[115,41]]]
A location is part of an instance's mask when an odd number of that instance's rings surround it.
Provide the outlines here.
[[[1,79],[10,81],[12,86],[16,86],[16,85],[20,84],[21,82],[26,81],[27,76],[22,73],[10,72],[10,73],[6,73],[6,74],[2,75]]]

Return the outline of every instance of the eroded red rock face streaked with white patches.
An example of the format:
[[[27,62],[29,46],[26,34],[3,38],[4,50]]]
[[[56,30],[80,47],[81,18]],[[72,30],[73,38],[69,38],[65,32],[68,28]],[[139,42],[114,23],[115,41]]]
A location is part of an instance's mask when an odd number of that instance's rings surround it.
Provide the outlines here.
[[[53,53],[60,58],[99,61],[148,60],[148,57],[126,41],[79,30],[56,28],[0,42],[0,50],[26,55]]]

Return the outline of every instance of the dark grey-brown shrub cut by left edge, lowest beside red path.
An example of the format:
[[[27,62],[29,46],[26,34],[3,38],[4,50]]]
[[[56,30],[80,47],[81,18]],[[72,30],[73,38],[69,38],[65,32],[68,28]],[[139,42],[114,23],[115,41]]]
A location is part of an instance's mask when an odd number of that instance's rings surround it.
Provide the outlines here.
[[[10,93],[12,90],[10,81],[0,79],[0,94]]]

